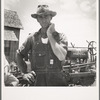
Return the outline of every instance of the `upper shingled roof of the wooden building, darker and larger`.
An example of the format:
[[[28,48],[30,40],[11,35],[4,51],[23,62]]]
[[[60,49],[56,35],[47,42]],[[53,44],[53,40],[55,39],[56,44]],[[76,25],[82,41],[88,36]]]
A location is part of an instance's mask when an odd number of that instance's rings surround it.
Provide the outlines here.
[[[4,26],[23,28],[16,11],[4,10]]]

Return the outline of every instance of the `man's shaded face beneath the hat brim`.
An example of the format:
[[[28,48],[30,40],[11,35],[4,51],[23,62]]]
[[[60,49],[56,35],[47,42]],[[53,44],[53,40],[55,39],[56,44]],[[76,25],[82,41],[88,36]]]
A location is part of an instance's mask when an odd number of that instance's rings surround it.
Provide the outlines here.
[[[46,28],[50,25],[51,19],[52,19],[51,15],[41,15],[37,17],[37,21],[43,28]]]

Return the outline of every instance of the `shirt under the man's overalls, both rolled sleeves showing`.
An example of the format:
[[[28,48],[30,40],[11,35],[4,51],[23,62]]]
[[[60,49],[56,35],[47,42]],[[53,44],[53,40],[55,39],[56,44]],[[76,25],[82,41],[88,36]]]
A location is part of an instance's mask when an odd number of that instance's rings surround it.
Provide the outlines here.
[[[35,43],[35,36],[40,35],[41,32],[40,30],[34,34],[30,34],[28,38],[25,40],[25,42],[21,45],[19,48],[20,53],[25,57],[27,53],[34,48],[34,43]],[[38,36],[39,36],[38,35]],[[63,33],[58,33],[55,32],[53,35],[54,39],[58,44],[60,44],[62,47],[64,47],[66,50],[68,49],[68,41],[66,36]]]

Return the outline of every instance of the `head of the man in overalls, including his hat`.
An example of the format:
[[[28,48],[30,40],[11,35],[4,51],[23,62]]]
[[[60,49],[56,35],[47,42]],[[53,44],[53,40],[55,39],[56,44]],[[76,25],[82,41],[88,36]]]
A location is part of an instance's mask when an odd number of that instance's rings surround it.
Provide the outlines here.
[[[36,14],[31,16],[40,23],[42,27],[48,27],[51,23],[52,17],[56,15],[56,12],[48,9],[48,5],[38,5],[38,10]]]

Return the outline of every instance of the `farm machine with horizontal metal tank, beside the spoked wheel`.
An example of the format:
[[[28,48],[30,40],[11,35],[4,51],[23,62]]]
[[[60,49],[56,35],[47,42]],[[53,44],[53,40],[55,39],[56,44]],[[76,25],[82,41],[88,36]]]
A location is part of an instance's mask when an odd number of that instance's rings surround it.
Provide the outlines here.
[[[90,62],[88,48],[68,48],[63,66],[67,85],[90,86],[93,84],[96,76],[96,72],[92,70],[93,66],[95,62]]]

